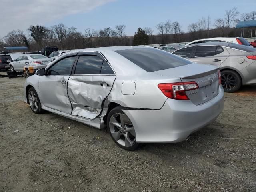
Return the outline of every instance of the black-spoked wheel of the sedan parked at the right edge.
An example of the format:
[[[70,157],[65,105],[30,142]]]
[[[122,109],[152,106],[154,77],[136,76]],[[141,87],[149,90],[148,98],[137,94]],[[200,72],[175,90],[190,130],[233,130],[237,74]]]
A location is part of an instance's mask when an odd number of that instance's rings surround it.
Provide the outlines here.
[[[242,79],[234,70],[221,71],[221,84],[225,92],[232,93],[240,89]]]

